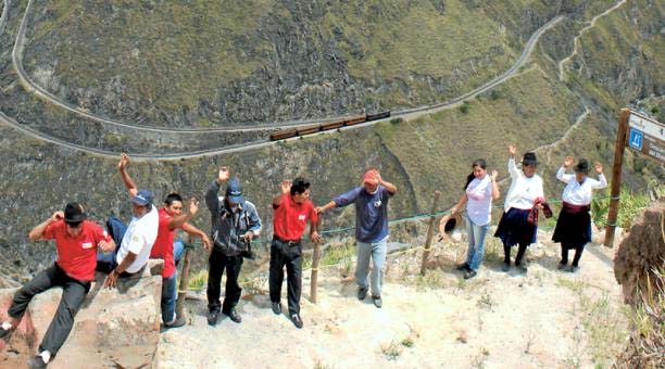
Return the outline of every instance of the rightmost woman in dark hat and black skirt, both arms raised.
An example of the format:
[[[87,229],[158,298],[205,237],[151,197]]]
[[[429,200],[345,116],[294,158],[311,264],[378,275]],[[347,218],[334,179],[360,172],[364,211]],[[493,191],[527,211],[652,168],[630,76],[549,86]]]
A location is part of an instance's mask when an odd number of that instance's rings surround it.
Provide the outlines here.
[[[556,179],[568,183],[563,193],[563,207],[559,214],[552,240],[561,242],[561,263],[559,269],[575,272],[579,269],[579,258],[587,242],[591,241],[591,216],[589,215],[593,190],[607,187],[603,175],[603,165],[595,163],[598,180],[589,178],[591,167],[586,158],[580,158],[573,168],[575,175],[566,174],[573,165],[573,156],[566,156],[564,164],[556,173]],[[568,250],[575,250],[573,264],[568,267]]]

